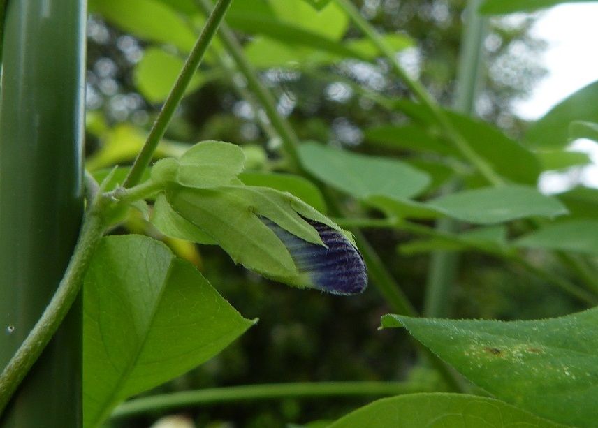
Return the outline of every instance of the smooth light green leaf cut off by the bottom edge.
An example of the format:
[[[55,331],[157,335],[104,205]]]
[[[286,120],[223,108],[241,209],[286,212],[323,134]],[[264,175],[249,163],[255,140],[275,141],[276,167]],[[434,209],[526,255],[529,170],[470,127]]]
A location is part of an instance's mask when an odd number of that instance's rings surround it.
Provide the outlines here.
[[[340,418],[329,428],[557,428],[497,399],[432,392],[383,398]]]

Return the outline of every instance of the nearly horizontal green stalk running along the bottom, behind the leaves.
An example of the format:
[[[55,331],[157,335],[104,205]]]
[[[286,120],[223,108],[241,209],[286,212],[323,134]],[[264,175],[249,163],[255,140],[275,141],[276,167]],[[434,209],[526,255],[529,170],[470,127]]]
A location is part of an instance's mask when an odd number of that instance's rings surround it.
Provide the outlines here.
[[[432,388],[421,383],[406,382],[316,382],[316,383],[272,383],[264,385],[242,385],[226,388],[173,392],[127,401],[112,413],[112,419],[129,418],[155,411],[170,411],[189,406],[203,406],[231,401],[315,398],[315,397],[368,397],[414,392],[428,392]]]

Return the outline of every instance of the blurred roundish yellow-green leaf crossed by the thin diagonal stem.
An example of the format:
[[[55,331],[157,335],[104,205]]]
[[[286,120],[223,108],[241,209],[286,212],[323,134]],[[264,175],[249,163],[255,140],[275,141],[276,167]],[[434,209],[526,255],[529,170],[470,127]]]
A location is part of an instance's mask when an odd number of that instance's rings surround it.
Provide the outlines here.
[[[175,80],[183,68],[184,60],[157,47],[149,47],[135,66],[133,80],[140,93],[150,103],[166,100]],[[199,89],[212,76],[195,74],[185,89],[185,94]]]

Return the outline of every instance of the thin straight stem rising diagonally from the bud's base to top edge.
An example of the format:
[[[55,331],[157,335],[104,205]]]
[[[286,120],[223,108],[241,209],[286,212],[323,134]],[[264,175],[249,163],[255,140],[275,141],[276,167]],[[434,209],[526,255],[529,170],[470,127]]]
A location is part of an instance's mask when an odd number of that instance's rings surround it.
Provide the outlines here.
[[[189,58],[187,58],[187,61],[185,61],[182,71],[177,78],[173,89],[170,89],[170,94],[168,94],[168,98],[166,98],[162,110],[160,110],[158,117],[156,117],[156,121],[154,121],[152,129],[149,131],[145,145],[143,145],[143,148],[133,163],[131,171],[129,171],[129,175],[127,175],[126,179],[124,180],[124,187],[131,187],[138,184],[141,176],[143,175],[143,171],[145,168],[147,168],[147,165],[149,165],[149,162],[152,160],[152,156],[156,150],[156,147],[158,147],[160,140],[164,136],[166,128],[168,128],[168,124],[170,124],[170,120],[173,118],[175,110],[184,96],[184,91],[187,89],[189,82],[191,82],[191,78],[193,78],[194,74],[196,73],[200,62],[203,59],[205,51],[207,50],[207,47],[210,45],[214,34],[216,34],[219,24],[224,19],[226,9],[228,9],[228,6],[231,5],[231,1],[232,0],[218,0],[216,6],[214,6],[214,10],[212,10],[210,15],[207,17],[205,27],[203,27],[203,31],[201,32],[197,43],[193,47],[193,50],[191,50]],[[211,9],[212,6],[210,5],[208,13]]]

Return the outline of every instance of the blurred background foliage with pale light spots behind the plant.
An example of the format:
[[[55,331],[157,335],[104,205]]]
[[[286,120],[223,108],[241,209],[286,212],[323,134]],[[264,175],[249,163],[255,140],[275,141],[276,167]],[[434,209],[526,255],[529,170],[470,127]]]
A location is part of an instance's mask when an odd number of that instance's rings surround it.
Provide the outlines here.
[[[194,0],[149,3],[168,9],[173,16],[187,22],[188,28],[201,27],[201,15],[188,15],[196,8]],[[437,191],[451,175],[451,165],[433,155],[381,144],[379,139],[370,138],[370,128],[407,123],[405,115],[383,106],[408,94],[389,71],[386,61],[342,59],[305,46],[290,50],[267,36],[242,31],[244,25],[250,24],[241,19],[247,10],[261,11],[274,5],[280,13],[291,3],[300,0],[235,0],[228,17],[238,30],[247,56],[274,92],[279,112],[291,121],[302,140],[328,142],[367,154],[409,158],[412,164],[432,174],[431,191]],[[455,96],[465,1],[356,0],[355,3],[399,50],[400,61],[407,71],[423,82],[443,105],[450,105]],[[126,26],[127,8],[117,6],[117,1],[92,1],[90,10],[87,167],[100,170],[131,161],[142,145],[189,48],[189,36],[176,28],[163,34],[152,33],[152,29],[148,34],[135,31]],[[148,17],[149,21],[161,19],[166,17]],[[348,20],[337,15],[328,19],[324,26],[315,22],[314,30],[328,31],[341,40],[338,45],[361,49],[365,57],[375,57],[375,52],[367,52],[367,45],[359,45],[360,34]],[[520,135],[524,126],[513,116],[511,103],[525,97],[532,84],[546,72],[538,62],[544,42],[530,35],[533,21],[530,15],[493,18],[483,41],[486,71],[476,113],[507,135]],[[296,59],[285,57],[289,51]],[[184,98],[159,154],[180,154],[187,145],[199,140],[224,140],[242,145],[249,165],[256,170],[284,167],[278,157],[279,140],[259,126],[262,113],[243,98],[242,89],[231,84],[231,80],[242,77],[226,71],[230,59],[219,60],[213,53],[192,82],[194,89]],[[352,208],[356,212],[364,209]],[[118,231],[142,232],[147,228],[147,223],[133,213]],[[428,253],[401,253],[402,245],[414,239],[406,232],[372,229],[367,230],[367,237],[411,302],[421,308]],[[163,385],[160,392],[251,383],[405,378],[421,379],[442,390],[442,381],[418,362],[405,332],[377,331],[380,316],[391,309],[375,288],[352,297],[289,288],[233,265],[217,246],[166,241],[177,253],[193,261],[240,313],[247,318],[260,318],[260,322],[224,353]],[[542,281],[516,266],[505,266],[504,261],[465,251],[460,266],[451,295],[454,318],[541,318],[578,309],[569,297],[547,290]],[[209,406],[181,413],[189,415],[200,427],[281,427],[289,421],[334,419],[367,401],[370,401],[367,397],[286,399]],[[145,427],[153,420],[151,416],[138,418],[124,426]]]

